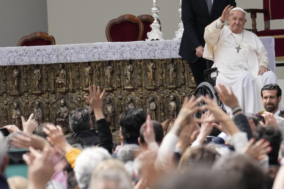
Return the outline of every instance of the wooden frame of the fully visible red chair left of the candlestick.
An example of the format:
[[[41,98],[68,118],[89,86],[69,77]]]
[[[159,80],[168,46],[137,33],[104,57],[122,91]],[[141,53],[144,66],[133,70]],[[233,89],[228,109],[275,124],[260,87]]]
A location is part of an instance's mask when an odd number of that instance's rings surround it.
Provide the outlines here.
[[[125,14],[125,15],[121,15],[120,17],[116,18],[116,19],[112,19],[111,21],[109,21],[109,23],[106,25],[106,38],[109,42],[112,42],[112,38],[110,35],[110,29],[112,27],[112,25],[114,24],[119,24],[120,22],[123,21],[131,21],[131,22],[135,22],[138,23],[139,25],[139,33],[138,33],[138,38],[137,41],[141,41],[142,37],[143,37],[143,22],[140,18],[135,17],[132,14]]]

